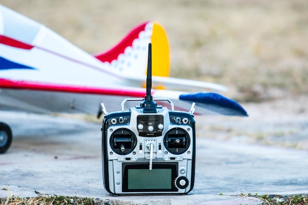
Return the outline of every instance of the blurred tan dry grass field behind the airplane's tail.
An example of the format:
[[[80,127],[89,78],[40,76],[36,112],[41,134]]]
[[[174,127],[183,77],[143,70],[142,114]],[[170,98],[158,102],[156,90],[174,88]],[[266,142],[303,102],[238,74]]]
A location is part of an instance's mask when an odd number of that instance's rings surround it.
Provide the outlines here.
[[[157,20],[171,47],[171,75],[226,85],[240,101],[308,93],[305,0],[1,0],[90,52]]]

